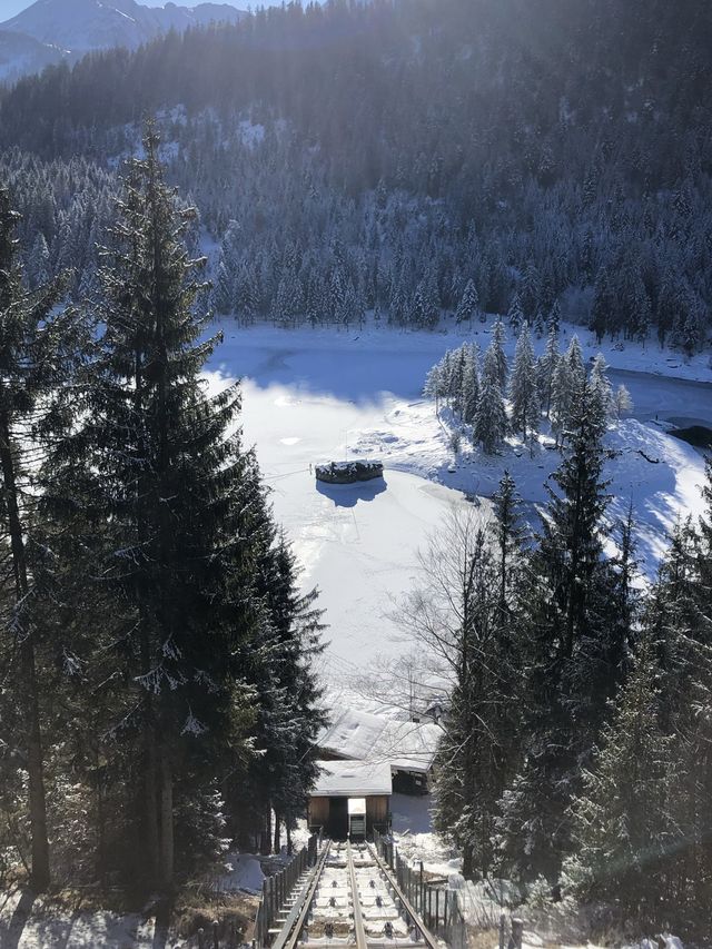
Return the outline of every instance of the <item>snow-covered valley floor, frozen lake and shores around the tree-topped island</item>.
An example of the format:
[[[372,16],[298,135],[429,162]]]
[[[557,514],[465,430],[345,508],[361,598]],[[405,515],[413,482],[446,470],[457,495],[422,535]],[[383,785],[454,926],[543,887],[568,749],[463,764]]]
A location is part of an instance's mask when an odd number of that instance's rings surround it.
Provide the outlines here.
[[[325,673],[347,679],[380,655],[405,646],[392,619],[394,605],[417,582],[416,553],[464,494],[491,496],[508,467],[532,518],[545,500],[544,482],[558,454],[510,445],[501,456],[463,451],[454,457],[433,404],[421,396],[429,367],[444,352],[474,338],[482,349],[488,327],[467,332],[400,333],[386,328],[239,328],[224,320],[225,344],[210,365],[211,384],[243,378],[243,423],[256,446],[284,524],[304,566],[304,585],[318,585],[329,623]],[[562,333],[562,348],[571,328]],[[581,332],[584,354],[597,352]],[[537,350],[543,340],[536,343]],[[510,340],[508,355],[513,355]],[[611,516],[633,501],[639,556],[652,576],[678,517],[700,510],[702,455],[666,434],[670,424],[712,427],[710,357],[686,363],[654,344],[604,345],[614,385],[624,382],[633,417],[609,436]],[[316,483],[309,465],[378,457],[385,483]],[[454,469],[453,469],[454,468]]]

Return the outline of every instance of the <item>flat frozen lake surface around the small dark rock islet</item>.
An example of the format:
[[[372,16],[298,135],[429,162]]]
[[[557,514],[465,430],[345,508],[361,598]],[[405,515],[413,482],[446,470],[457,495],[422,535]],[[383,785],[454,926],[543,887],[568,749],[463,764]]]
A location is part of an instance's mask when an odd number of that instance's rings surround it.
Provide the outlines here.
[[[398,395],[406,388],[417,395],[433,359],[409,353],[394,373],[395,353],[375,353],[366,364],[338,349],[230,346],[229,360],[225,349],[215,363],[224,377],[243,376],[245,443],[256,446],[304,586],[320,590],[329,624],[324,673],[343,681],[379,655],[404,651],[389,614],[416,582],[418,547],[448,505],[466,502],[461,492],[402,471],[386,471],[383,482],[325,485],[309,465],[347,456],[349,438],[382,425],[390,411],[388,377]]]

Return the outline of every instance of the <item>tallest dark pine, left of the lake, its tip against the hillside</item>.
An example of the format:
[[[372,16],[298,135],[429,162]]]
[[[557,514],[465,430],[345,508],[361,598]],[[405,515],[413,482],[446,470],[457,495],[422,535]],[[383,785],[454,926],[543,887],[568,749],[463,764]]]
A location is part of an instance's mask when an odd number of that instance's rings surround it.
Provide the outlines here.
[[[260,505],[254,459],[228,434],[238,391],[208,397],[200,382],[218,340],[198,342],[200,261],[181,243],[190,210],[164,185],[157,147],[149,130],[146,159],[130,164],[123,184],[86,413],[51,458],[63,477],[46,504],[65,569],[70,517],[75,545],[83,532],[75,570],[113,603],[96,649],[113,655],[126,683],[111,734],[140,775],[134,871],[170,890],[180,815],[207,815],[215,780],[244,749],[238,710],[248,703],[236,663],[259,620],[247,565]],[[85,658],[90,668],[95,655]]]

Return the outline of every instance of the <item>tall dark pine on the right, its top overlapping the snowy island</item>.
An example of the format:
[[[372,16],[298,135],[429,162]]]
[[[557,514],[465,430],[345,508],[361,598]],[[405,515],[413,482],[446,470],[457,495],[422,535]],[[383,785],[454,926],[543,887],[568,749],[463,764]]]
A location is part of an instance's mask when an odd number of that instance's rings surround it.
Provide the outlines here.
[[[570,848],[566,817],[582,762],[623,672],[615,641],[615,576],[603,556],[604,426],[587,386],[577,392],[570,442],[547,486],[543,528],[527,564],[523,637],[525,758],[504,792],[498,820],[505,862],[524,878],[554,882]],[[615,626],[615,629],[619,629]]]

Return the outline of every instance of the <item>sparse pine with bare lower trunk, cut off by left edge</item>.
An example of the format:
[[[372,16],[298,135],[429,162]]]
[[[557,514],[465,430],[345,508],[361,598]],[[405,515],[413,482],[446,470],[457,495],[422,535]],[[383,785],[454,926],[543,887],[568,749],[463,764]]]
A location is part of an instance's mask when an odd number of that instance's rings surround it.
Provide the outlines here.
[[[42,684],[38,672],[42,593],[33,576],[36,541],[32,468],[47,446],[41,436],[51,403],[71,378],[80,336],[70,312],[57,313],[61,281],[27,294],[17,264],[18,215],[0,190],[0,538],[4,547],[0,580],[3,669],[0,745],[23,762],[28,773],[31,837],[30,878],[36,890],[50,882],[49,831],[44,787]],[[53,419],[56,424],[58,419]],[[40,437],[32,445],[33,437]]]

